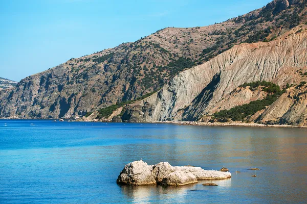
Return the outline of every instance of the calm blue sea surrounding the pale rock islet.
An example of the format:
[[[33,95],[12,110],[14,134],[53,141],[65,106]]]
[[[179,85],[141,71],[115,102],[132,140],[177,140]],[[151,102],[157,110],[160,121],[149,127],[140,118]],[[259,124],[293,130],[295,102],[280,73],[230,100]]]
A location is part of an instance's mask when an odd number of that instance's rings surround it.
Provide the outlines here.
[[[272,127],[0,120],[0,203],[305,203],[306,136]],[[124,165],[141,158],[225,166],[232,178],[217,187],[117,185]]]

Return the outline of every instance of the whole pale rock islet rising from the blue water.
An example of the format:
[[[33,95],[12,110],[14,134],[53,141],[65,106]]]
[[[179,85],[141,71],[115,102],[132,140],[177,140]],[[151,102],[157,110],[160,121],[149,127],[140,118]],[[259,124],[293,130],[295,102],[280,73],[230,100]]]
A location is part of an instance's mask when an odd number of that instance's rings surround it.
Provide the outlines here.
[[[171,166],[168,162],[148,165],[143,161],[135,161],[125,165],[116,183],[131,186],[183,186],[198,183],[198,180],[219,180],[230,177],[230,172],[204,170],[201,167]]]

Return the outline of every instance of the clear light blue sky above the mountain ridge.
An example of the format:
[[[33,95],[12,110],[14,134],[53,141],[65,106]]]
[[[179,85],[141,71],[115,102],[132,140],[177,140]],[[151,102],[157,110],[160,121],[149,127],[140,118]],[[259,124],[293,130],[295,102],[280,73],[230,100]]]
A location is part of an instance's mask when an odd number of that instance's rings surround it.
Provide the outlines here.
[[[271,0],[0,0],[0,77],[20,81],[166,27],[222,22]]]

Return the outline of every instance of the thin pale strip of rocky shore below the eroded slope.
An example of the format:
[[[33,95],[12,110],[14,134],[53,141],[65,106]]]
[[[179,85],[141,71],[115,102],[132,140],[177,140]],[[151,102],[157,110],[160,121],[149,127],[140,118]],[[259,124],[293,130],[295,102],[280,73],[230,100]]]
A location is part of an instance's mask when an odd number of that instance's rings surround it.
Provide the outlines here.
[[[199,125],[199,126],[244,126],[244,127],[303,127],[299,125],[287,124],[260,124],[254,122],[200,122],[200,121],[162,121],[158,123],[172,123],[179,125]]]

